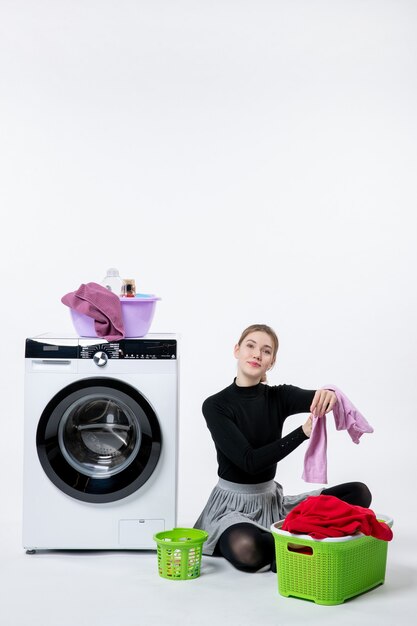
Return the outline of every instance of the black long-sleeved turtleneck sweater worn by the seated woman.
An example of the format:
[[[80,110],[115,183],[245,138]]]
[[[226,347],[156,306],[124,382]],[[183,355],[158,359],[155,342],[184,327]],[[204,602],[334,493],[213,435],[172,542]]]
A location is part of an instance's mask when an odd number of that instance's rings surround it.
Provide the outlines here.
[[[292,385],[229,387],[207,398],[203,415],[217,450],[220,478],[254,484],[272,480],[278,461],[308,439],[302,427],[282,437],[289,415],[307,413],[315,391]]]

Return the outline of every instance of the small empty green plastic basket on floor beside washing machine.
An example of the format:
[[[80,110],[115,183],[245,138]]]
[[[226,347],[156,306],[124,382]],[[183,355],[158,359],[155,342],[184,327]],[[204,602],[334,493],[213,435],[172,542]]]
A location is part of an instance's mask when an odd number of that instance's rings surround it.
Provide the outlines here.
[[[173,528],[154,535],[159,575],[169,580],[198,578],[207,537],[204,530],[196,528]]]

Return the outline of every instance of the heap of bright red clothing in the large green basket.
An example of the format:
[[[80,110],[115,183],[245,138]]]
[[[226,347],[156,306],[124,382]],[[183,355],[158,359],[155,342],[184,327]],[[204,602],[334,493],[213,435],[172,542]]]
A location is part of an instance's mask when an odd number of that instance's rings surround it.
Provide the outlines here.
[[[335,496],[309,496],[288,513],[282,530],[310,535],[313,539],[363,533],[391,541],[392,530],[377,520],[371,509],[348,504]]]

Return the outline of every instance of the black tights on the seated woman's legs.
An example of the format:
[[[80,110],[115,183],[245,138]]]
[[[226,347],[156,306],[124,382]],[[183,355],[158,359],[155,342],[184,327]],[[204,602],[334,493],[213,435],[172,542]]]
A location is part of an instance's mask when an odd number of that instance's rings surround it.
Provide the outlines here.
[[[358,482],[329,487],[321,493],[366,508],[369,508],[372,499],[368,487]],[[229,526],[220,535],[214,553],[223,556],[236,569],[244,572],[257,572],[267,565],[274,569],[275,565],[275,542],[272,533],[250,522]]]

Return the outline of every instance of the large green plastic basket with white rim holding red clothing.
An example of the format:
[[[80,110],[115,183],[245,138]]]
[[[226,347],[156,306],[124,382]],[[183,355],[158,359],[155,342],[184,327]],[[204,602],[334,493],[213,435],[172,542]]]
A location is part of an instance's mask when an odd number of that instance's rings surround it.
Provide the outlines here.
[[[392,519],[378,516],[389,526]],[[342,604],[385,580],[388,544],[362,534],[315,540],[272,524],[278,591],[316,604]]]

